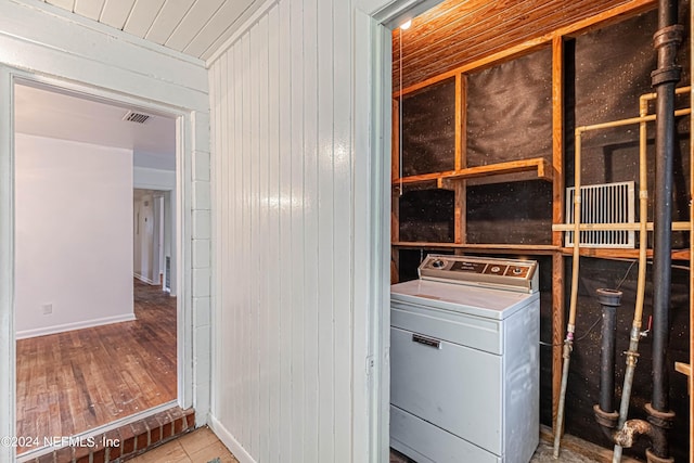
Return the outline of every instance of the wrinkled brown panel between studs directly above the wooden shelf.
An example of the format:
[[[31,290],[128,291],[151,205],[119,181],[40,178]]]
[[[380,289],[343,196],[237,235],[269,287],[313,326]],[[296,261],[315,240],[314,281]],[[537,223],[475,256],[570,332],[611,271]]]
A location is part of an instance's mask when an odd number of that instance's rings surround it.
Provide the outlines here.
[[[467,166],[552,159],[552,50],[467,76]]]

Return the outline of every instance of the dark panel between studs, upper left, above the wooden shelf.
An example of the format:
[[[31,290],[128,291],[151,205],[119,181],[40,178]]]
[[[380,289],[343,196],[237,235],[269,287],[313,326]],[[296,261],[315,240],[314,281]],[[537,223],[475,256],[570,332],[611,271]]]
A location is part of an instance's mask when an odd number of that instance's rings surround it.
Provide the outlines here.
[[[455,168],[455,79],[407,94],[400,102],[401,177]]]

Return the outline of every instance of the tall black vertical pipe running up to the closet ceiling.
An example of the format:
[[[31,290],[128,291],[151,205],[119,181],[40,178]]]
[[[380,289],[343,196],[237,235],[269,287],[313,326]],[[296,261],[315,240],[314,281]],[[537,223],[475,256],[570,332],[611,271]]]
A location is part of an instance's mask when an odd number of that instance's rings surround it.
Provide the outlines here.
[[[653,288],[653,402],[657,411],[669,410],[666,353],[670,327],[670,266],[672,228],[672,156],[674,151],[674,86],[680,80],[676,65],[682,28],[677,26],[677,0],[658,3],[658,31],[654,36],[658,68],[653,72],[656,88],[656,166],[654,201]]]

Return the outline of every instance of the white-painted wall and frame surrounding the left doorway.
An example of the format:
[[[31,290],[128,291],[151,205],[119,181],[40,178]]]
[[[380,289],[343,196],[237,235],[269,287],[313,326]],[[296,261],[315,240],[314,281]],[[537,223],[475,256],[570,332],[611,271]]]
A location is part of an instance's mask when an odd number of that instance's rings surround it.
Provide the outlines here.
[[[167,51],[50,4],[0,3],[0,435],[15,435],[12,94],[15,76],[154,106],[178,115],[176,256],[179,262],[179,403],[207,422],[210,357],[210,171],[207,70]],[[87,89],[87,90],[85,90]],[[195,249],[195,250],[194,250]],[[129,253],[130,254],[130,253]],[[15,461],[0,446],[0,462]]]

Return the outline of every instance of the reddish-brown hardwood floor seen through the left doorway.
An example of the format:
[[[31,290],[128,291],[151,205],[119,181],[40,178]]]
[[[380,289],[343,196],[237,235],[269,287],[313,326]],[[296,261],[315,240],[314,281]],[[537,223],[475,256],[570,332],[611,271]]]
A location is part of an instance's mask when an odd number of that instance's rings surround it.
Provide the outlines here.
[[[17,340],[17,436],[73,436],[176,399],[176,298],[136,280],[134,313]]]

